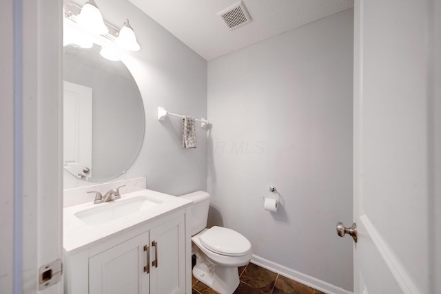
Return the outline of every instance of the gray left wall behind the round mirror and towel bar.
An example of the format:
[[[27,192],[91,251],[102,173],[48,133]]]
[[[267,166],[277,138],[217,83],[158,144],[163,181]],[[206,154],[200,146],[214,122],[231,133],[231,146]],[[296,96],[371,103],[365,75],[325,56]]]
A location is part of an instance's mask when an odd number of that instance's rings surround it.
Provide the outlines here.
[[[207,61],[129,1],[101,1],[99,8],[105,20],[117,26],[128,18],[141,45],[139,52],[127,52],[121,59],[143,97],[145,138],[136,162],[119,179],[146,176],[148,189],[172,195],[207,189],[206,130],[196,127],[197,149],[183,149],[181,118],[157,120],[158,106],[195,118],[207,117]],[[85,185],[90,183],[65,171],[65,189]]]

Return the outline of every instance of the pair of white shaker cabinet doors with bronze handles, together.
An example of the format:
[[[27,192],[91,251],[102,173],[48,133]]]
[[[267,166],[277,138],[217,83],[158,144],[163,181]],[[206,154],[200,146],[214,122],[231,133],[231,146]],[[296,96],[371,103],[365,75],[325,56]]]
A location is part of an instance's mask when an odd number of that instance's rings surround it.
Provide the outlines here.
[[[89,294],[185,293],[183,216],[89,258]]]

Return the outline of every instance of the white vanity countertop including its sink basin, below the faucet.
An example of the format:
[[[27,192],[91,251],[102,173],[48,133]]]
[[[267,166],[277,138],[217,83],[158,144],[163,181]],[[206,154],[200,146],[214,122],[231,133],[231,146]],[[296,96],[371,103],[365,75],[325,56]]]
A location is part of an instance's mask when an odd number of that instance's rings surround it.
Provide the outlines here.
[[[94,204],[90,194],[83,196],[90,198],[63,209],[63,247],[66,252],[99,244],[115,233],[136,229],[158,216],[192,204],[187,199],[148,189],[125,193],[121,199],[101,204]]]

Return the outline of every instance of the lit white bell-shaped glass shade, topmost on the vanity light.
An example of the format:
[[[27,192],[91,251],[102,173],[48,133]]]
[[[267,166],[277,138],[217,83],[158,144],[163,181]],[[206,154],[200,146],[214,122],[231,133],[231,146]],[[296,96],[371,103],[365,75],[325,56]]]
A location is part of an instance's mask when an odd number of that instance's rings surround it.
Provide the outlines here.
[[[103,15],[101,15],[98,6],[96,6],[93,0],[84,4],[75,20],[81,28],[89,30],[94,34],[107,34],[109,32],[109,29],[104,24]]]

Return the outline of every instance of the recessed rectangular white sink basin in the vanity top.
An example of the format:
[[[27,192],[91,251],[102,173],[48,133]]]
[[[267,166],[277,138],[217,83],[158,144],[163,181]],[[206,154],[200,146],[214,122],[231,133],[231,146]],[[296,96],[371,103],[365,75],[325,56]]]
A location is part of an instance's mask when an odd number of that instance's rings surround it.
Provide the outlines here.
[[[127,200],[118,199],[96,204],[96,207],[77,211],[74,213],[74,216],[85,224],[94,226],[135,213],[141,213],[161,203],[163,203],[163,201],[148,196],[136,196]]]

